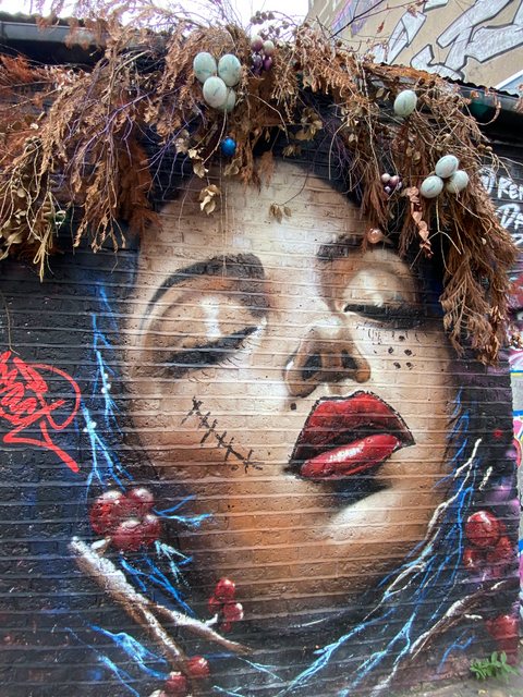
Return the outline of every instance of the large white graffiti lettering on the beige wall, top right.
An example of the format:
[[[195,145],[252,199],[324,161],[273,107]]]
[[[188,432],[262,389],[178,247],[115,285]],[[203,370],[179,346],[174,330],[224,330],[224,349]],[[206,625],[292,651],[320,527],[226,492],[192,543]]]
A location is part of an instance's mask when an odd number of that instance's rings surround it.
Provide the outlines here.
[[[511,2],[512,0],[476,0],[437,37],[438,47],[449,48],[445,60],[435,60],[434,47],[427,44],[411,59],[411,65],[418,70],[439,73],[443,77],[465,80],[465,66],[470,58],[485,63],[506,51],[523,46],[523,2],[520,2],[511,24],[482,26]],[[427,20],[427,12],[443,8],[448,3],[449,0],[428,0],[423,12],[405,12],[390,35],[389,46],[374,50],[376,59],[388,63],[396,62],[417,36]],[[445,15],[439,14],[438,22],[445,22]]]

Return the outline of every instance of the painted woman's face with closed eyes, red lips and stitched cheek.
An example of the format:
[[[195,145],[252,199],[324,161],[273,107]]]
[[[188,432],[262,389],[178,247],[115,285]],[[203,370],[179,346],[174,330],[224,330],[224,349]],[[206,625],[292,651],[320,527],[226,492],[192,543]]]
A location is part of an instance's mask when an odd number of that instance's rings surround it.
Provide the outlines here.
[[[426,535],[451,355],[410,266],[362,250],[365,221],[328,182],[287,162],[259,195],[223,182],[211,217],[181,197],[142,242],[125,382],[160,478],[208,516],[181,550],[209,587],[234,579],[246,617],[292,625]]]

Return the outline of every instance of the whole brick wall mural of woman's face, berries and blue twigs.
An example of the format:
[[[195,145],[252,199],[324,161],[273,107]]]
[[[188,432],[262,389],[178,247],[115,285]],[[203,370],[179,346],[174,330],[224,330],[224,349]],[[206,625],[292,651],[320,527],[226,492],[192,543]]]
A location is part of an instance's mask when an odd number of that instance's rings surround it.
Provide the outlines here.
[[[117,260],[2,262],[0,694],[377,695],[512,660],[507,357],[457,356],[430,262],[363,250],[328,178],[221,186]]]

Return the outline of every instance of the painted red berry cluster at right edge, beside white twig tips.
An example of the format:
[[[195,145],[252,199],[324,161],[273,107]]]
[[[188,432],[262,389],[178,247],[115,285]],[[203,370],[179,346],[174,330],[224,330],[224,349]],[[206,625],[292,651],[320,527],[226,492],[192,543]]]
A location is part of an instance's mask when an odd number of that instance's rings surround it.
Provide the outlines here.
[[[502,567],[513,558],[512,545],[506,531],[504,523],[488,511],[473,513],[465,524],[465,535],[472,543],[463,551],[465,567],[476,573],[488,563],[492,576],[499,576]]]

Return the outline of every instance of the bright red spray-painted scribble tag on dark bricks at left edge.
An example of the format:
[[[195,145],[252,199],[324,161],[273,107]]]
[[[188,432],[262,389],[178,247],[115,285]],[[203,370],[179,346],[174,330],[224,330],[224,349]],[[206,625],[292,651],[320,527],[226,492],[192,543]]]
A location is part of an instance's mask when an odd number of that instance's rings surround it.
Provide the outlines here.
[[[26,443],[52,450],[73,472],[78,472],[78,465],[52,442],[48,430],[50,428],[54,431],[61,431],[71,424],[80,406],[78,386],[63,370],[44,364],[28,366],[16,357],[12,359],[14,367],[9,369],[10,357],[10,351],[0,355],[0,418],[4,418],[14,427],[3,437],[3,442]],[[70,413],[62,424],[57,424],[52,412],[63,406],[66,400],[52,402],[48,384],[38,371],[58,375],[73,388],[74,406],[71,405],[72,408],[69,409]],[[21,436],[24,428],[36,423],[41,431],[41,440]]]

